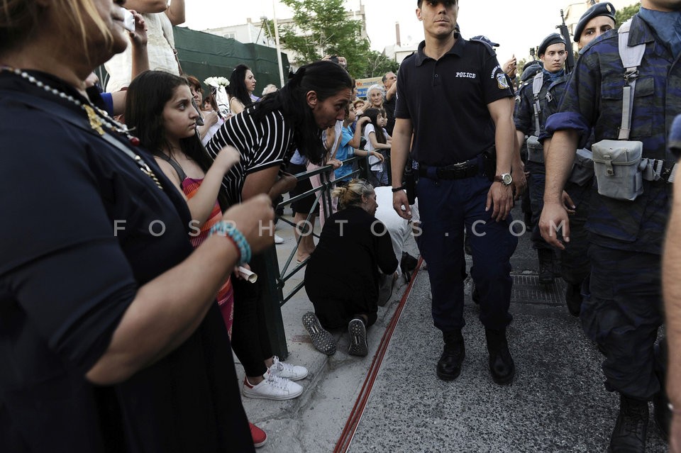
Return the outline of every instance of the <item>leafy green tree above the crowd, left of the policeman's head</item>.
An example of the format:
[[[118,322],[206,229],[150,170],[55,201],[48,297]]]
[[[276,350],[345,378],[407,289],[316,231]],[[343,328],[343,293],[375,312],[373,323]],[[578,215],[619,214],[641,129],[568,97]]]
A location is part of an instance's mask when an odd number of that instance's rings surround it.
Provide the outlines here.
[[[382,76],[397,71],[397,63],[370,50],[361,23],[347,17],[343,0],[282,0],[294,11],[294,26],[279,26],[282,46],[297,53],[296,65],[341,55],[353,77]],[[270,28],[271,29],[271,28]]]

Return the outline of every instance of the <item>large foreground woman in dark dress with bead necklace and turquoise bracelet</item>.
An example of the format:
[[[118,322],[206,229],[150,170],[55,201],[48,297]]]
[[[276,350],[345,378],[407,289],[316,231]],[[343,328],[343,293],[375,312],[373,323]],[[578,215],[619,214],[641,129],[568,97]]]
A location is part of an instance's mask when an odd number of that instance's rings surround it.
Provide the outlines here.
[[[214,297],[272,206],[192,252],[187,203],[84,96],[122,3],[0,0],[0,451],[253,451]]]

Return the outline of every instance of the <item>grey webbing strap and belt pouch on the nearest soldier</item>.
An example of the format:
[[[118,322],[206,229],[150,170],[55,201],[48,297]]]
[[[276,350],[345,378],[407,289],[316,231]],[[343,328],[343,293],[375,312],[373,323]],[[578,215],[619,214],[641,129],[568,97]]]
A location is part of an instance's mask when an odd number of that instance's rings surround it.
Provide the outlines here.
[[[633,93],[646,45],[627,45],[631,19],[619,28],[619,56],[624,65],[624,94],[622,96],[622,123],[618,140],[601,140],[592,145],[594,172],[598,193],[616,200],[633,201],[643,194],[646,181],[674,182],[675,162],[643,158],[643,142],[629,140]]]

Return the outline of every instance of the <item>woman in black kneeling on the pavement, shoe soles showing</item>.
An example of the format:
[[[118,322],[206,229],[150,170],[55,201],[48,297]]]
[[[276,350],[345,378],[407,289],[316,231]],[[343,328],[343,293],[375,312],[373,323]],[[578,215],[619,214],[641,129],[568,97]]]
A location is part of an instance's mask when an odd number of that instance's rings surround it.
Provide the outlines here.
[[[366,328],[378,313],[379,269],[397,270],[397,258],[385,225],[375,218],[376,194],[371,184],[353,179],[333,191],[341,211],[326,221],[319,244],[305,271],[305,290],[315,313],[305,313],[303,325],[312,343],[325,354],[336,342],[325,329],[348,326],[348,354],[368,354]]]

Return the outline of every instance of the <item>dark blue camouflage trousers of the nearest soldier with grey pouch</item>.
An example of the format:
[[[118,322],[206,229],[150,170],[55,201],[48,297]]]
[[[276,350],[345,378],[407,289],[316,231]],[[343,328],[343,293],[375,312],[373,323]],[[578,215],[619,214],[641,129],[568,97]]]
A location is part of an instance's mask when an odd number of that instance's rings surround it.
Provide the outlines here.
[[[655,340],[663,323],[660,255],[592,243],[589,259],[591,295],[580,318],[605,355],[607,388],[648,400],[660,389],[655,373]]]

